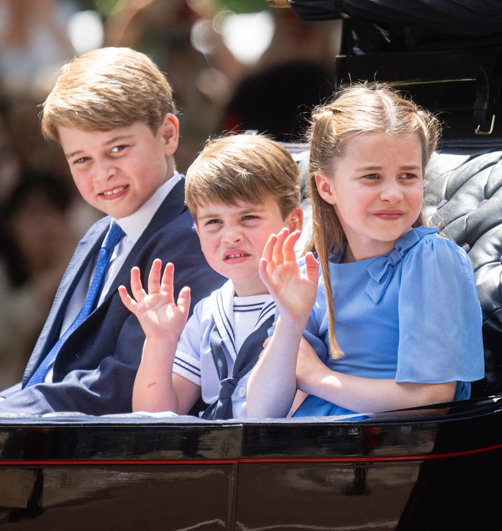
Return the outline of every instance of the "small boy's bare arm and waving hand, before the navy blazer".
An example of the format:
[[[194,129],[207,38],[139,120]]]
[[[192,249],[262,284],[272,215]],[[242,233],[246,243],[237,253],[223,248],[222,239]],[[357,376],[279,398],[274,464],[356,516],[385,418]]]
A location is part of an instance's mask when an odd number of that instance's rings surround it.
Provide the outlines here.
[[[173,382],[172,367],[178,338],[190,308],[190,289],[181,289],[174,302],[174,265],[168,263],[161,281],[162,262],[154,260],[148,275],[148,294],[143,289],[137,267],[131,270],[132,298],[125,286],[119,287],[122,302],[136,315],[145,343],[134,382],[133,411],[173,411],[186,414],[200,396],[200,387],[184,378]]]

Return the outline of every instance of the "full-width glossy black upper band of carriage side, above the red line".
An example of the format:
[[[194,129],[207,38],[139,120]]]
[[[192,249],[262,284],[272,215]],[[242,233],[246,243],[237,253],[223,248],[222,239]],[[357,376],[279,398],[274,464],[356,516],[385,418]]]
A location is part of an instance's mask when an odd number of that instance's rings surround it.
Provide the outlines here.
[[[462,402],[443,416],[363,422],[329,418],[219,421],[192,417],[22,417],[0,422],[0,461],[239,460],[455,453],[502,443],[502,404]]]

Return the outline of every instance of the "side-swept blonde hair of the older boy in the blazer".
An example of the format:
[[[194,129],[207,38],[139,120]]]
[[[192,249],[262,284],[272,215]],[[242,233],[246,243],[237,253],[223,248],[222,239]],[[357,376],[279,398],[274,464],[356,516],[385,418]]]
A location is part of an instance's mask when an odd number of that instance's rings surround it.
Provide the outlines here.
[[[175,113],[171,87],[146,55],[130,48],[99,48],[61,69],[42,106],[46,138],[58,127],[111,131],[143,122],[155,134],[164,116]]]

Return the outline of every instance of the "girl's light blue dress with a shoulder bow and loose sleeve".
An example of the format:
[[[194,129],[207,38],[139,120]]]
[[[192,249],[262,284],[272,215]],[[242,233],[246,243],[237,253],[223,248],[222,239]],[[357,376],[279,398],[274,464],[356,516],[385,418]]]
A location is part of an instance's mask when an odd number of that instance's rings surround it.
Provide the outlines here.
[[[418,227],[389,253],[351,263],[330,260],[336,334],[329,353],[324,282],[304,337],[333,371],[397,382],[457,381],[454,400],[469,398],[485,371],[481,307],[471,261],[461,247]],[[347,415],[309,396],[294,416]],[[372,413],[372,412],[359,412]]]

